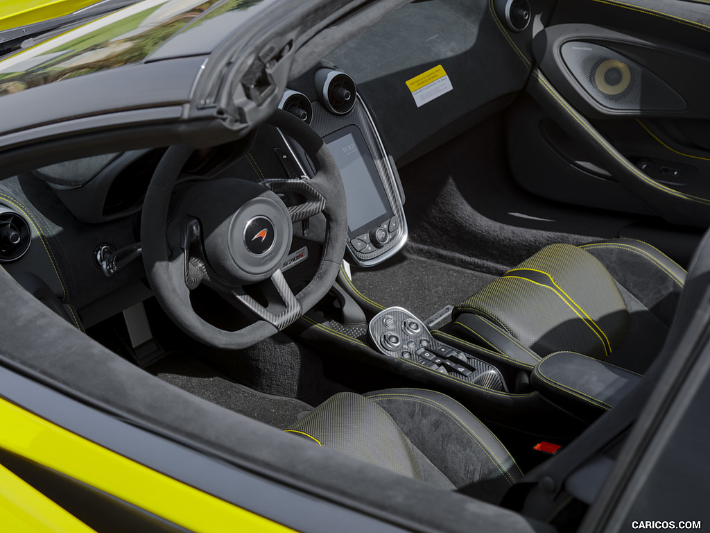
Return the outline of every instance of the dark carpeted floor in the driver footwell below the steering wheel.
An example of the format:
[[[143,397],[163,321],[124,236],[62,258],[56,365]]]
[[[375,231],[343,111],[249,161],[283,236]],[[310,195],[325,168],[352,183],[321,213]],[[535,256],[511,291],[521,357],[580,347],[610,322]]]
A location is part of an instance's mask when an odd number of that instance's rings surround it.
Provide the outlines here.
[[[226,409],[284,429],[296,415],[313,409],[293,398],[272,396],[235,383],[195,357],[171,353],[147,369],[163,381]]]

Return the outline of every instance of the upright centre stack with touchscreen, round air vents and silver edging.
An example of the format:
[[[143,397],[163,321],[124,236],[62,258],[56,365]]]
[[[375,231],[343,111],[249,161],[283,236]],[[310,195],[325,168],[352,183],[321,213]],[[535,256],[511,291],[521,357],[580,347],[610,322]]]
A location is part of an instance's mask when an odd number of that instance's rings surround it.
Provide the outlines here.
[[[327,144],[342,176],[348,210],[347,249],[359,266],[379,264],[407,240],[403,190],[354,81],[344,72],[317,68],[294,80],[281,107],[300,117]],[[297,89],[297,90],[296,90]],[[302,172],[304,152],[284,137]]]

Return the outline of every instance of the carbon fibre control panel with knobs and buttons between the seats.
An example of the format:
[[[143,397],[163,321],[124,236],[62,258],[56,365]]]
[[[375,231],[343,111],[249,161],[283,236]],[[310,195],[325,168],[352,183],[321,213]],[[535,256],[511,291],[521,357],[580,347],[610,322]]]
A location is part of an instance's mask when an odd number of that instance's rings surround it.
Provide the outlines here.
[[[406,309],[389,307],[378,313],[370,321],[368,335],[371,344],[389,357],[407,359],[467,383],[508,392],[496,367],[433,338],[422,321]]]

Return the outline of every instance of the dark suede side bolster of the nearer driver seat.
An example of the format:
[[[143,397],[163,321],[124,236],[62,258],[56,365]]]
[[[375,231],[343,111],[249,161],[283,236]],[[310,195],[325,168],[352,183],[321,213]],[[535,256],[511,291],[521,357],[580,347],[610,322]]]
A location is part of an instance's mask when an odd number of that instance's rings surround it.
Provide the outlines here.
[[[392,417],[410,441],[454,485],[499,502],[523,476],[508,450],[453,398],[426,389],[385,389],[365,395]]]

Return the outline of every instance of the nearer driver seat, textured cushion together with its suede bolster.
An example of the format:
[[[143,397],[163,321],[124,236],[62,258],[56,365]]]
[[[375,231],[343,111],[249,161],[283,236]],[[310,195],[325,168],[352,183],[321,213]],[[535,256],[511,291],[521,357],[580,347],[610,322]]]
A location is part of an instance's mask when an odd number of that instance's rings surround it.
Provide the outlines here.
[[[426,389],[340,392],[285,431],[492,503],[523,478],[503,443],[471,411]]]

